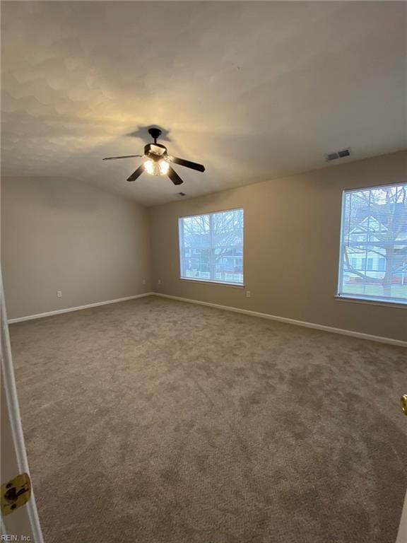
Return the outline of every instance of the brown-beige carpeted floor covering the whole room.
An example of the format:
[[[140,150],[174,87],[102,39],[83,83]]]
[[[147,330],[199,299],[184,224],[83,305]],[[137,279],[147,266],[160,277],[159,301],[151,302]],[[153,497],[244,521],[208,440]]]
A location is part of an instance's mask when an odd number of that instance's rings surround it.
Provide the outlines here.
[[[11,326],[46,543],[393,543],[406,349],[162,298]]]

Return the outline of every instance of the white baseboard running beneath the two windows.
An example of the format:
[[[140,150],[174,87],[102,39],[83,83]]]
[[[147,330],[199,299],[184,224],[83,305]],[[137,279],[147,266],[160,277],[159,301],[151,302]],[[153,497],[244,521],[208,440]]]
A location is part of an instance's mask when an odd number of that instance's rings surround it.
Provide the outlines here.
[[[401,339],[374,336],[372,334],[364,334],[363,332],[354,332],[353,330],[345,330],[342,328],[334,328],[331,326],[317,325],[314,322],[305,322],[304,320],[289,319],[288,317],[278,317],[277,315],[269,315],[268,313],[259,313],[258,311],[249,311],[247,309],[232,308],[229,305],[218,305],[217,303],[201,302],[199,300],[191,300],[189,298],[180,298],[179,296],[170,296],[169,294],[162,294],[159,292],[153,292],[153,295],[161,296],[162,298],[171,298],[172,300],[179,300],[180,302],[196,303],[199,305],[208,305],[210,308],[223,309],[226,311],[234,311],[235,313],[243,313],[244,315],[252,315],[252,317],[261,317],[262,319],[278,320],[279,322],[286,322],[288,325],[314,328],[317,330],[323,330],[324,332],[342,334],[343,336],[358,337],[359,339],[369,339],[370,341],[379,341],[380,343],[387,343],[390,345],[407,347],[407,341],[401,341]]]

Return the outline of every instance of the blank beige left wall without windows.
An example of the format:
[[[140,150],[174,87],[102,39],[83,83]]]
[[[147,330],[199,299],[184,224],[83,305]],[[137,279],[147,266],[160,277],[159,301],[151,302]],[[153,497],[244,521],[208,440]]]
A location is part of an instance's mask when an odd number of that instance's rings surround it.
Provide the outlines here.
[[[148,292],[148,211],[78,181],[4,178],[1,267],[10,319]]]

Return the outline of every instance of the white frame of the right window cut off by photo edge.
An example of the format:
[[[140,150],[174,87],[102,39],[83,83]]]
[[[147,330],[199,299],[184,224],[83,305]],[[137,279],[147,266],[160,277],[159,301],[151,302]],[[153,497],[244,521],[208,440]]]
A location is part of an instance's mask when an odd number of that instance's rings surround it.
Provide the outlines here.
[[[380,189],[381,187],[397,187],[399,185],[406,185],[405,182],[397,182],[397,183],[384,183],[383,185],[372,185],[370,187],[359,187],[357,189],[344,189],[342,191],[342,201],[341,201],[341,236],[339,240],[339,270],[338,270],[338,283],[336,288],[336,295],[335,298],[337,300],[343,300],[343,301],[350,301],[350,302],[356,302],[356,303],[368,303],[372,305],[387,305],[387,306],[399,306],[402,308],[406,308],[407,300],[403,300],[403,298],[386,298],[384,296],[369,296],[369,295],[358,295],[358,294],[352,294],[352,293],[342,293],[341,288],[343,286],[343,220],[345,217],[345,202],[346,202],[346,194],[350,192],[361,192],[363,190],[372,190],[372,189]]]

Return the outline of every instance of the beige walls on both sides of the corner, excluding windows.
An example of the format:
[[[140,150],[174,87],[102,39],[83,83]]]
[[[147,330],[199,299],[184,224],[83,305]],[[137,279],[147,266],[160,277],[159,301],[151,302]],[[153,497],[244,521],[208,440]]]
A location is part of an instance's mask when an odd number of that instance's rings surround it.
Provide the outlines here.
[[[406,164],[394,153],[150,210],[73,180],[4,178],[8,317],[158,291],[406,341],[407,308],[335,298],[343,189],[403,182]],[[179,279],[178,217],[234,207],[244,209],[251,298]]]

